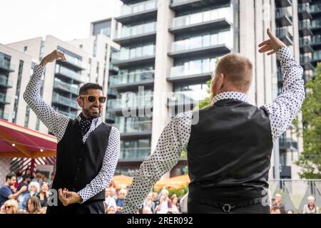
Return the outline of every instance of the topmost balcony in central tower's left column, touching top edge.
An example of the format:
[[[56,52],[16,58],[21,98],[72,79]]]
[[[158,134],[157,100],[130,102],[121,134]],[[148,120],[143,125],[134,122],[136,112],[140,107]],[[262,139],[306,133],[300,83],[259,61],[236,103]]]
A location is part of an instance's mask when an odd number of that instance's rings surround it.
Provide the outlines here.
[[[121,24],[128,24],[133,21],[143,21],[157,16],[157,1],[143,1],[138,4],[123,5],[121,16],[116,17],[116,21]]]

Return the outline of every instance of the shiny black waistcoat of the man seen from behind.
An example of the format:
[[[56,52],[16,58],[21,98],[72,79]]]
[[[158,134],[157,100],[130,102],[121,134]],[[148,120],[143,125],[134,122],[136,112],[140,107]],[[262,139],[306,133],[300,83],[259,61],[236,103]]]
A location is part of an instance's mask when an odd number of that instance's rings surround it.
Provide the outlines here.
[[[241,202],[265,197],[271,153],[265,110],[240,100],[219,100],[200,110],[188,142],[189,199]]]

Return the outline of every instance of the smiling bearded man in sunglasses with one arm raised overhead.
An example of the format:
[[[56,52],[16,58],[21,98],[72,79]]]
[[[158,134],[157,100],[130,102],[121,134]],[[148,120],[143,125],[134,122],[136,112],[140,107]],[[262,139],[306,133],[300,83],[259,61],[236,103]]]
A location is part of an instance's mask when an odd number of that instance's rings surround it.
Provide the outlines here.
[[[79,89],[81,113],[74,120],[57,113],[41,98],[41,77],[47,63],[66,61],[53,51],[34,68],[24,100],[57,137],[56,175],[52,188],[58,190],[57,206],[48,214],[103,214],[105,188],[111,182],[119,157],[120,134],[103,123],[101,111],[106,97],[101,86],[86,83]],[[70,191],[69,191],[70,190]],[[54,200],[53,200],[54,201]]]

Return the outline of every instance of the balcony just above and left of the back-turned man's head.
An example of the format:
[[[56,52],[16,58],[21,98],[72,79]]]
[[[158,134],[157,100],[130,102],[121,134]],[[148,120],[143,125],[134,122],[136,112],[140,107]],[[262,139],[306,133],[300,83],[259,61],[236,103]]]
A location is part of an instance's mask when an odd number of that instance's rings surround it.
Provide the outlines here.
[[[183,41],[172,43],[168,56],[180,57],[203,57],[206,55],[218,56],[230,53],[233,48],[233,33],[218,33],[208,36],[197,36]]]

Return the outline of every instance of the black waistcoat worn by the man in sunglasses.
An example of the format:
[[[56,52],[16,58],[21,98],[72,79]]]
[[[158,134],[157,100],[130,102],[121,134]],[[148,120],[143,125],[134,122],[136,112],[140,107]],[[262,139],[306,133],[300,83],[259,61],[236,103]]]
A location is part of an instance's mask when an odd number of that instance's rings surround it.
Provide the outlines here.
[[[78,192],[98,175],[110,132],[111,126],[101,123],[83,143],[78,120],[69,121],[57,145],[56,176],[53,182],[55,190],[66,187],[69,191]],[[105,199],[105,190],[88,201],[97,199]]]

